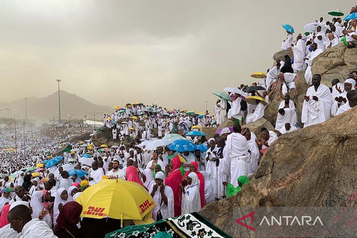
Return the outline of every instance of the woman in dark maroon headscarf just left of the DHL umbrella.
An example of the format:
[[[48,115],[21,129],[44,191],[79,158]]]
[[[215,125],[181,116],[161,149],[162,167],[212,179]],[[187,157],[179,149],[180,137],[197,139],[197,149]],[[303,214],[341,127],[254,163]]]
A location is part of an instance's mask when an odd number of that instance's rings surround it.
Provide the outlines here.
[[[57,217],[57,224],[52,229],[58,238],[82,238],[82,230],[77,227],[81,221],[82,205],[71,201],[67,202]]]

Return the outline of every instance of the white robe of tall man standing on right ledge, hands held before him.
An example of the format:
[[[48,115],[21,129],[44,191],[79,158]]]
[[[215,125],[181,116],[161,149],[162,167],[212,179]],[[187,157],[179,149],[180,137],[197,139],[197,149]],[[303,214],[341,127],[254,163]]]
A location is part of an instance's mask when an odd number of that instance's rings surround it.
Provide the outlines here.
[[[315,125],[328,120],[331,116],[332,97],[330,88],[320,84],[317,91],[315,86],[307,89],[306,96],[310,97],[307,102],[304,99],[301,112],[301,122],[304,127]],[[312,96],[317,96],[318,101],[312,99]]]

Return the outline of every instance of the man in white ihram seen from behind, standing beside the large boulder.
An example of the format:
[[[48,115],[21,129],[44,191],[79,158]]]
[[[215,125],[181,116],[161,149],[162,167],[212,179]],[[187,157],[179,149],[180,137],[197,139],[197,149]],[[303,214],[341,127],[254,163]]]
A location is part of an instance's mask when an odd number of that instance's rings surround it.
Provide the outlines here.
[[[247,139],[241,135],[239,124],[233,125],[233,133],[227,136],[227,151],[231,159],[231,184],[238,186],[237,178],[248,175],[250,163],[250,147]]]

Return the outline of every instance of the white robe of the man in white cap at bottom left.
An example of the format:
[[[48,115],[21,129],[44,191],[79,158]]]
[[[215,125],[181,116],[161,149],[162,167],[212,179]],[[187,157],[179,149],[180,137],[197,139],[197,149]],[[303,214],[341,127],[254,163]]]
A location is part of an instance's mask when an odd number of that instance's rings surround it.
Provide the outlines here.
[[[57,238],[46,222],[41,221],[38,218],[33,218],[27,222],[22,228],[21,237],[23,238]]]

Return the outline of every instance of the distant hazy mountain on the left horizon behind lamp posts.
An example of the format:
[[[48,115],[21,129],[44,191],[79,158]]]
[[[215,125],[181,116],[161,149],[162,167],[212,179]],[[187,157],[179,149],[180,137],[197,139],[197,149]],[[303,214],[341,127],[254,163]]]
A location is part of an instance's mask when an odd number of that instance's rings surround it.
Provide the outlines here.
[[[87,115],[87,120],[92,120],[93,116],[87,112],[101,112],[96,115],[96,120],[102,118],[104,112],[112,113],[114,110],[108,106],[95,105],[75,94],[66,91],[60,91],[61,96],[61,119],[84,118]],[[25,100],[20,99],[12,102],[0,102],[0,109],[7,108],[11,111],[0,111],[0,117],[13,117],[16,113],[16,118],[25,116]],[[45,118],[58,119],[58,91],[47,97],[28,97],[27,98],[27,118]]]

